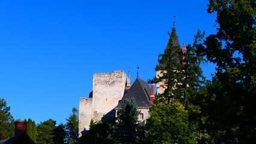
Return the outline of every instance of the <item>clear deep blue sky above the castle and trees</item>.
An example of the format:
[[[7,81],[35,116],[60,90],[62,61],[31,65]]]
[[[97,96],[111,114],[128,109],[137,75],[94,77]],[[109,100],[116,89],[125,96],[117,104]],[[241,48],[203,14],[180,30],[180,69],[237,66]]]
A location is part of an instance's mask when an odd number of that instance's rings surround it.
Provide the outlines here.
[[[93,73],[155,76],[175,18],[180,43],[215,34],[207,1],[0,0],[0,97],[15,119],[66,123]],[[202,65],[210,79],[212,64]]]

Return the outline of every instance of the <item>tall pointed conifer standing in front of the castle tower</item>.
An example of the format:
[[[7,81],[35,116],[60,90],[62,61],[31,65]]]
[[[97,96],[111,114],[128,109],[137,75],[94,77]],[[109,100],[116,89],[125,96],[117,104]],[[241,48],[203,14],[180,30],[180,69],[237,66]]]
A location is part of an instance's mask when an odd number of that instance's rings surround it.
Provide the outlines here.
[[[174,41],[177,41],[176,29],[172,28],[170,38],[168,41],[168,46],[165,49],[163,54],[159,55],[159,65],[156,66],[156,71],[160,71],[162,76],[154,77],[153,82],[159,83],[164,82],[166,89],[163,94],[156,95],[156,103],[171,103],[173,98],[181,99],[183,94],[181,92],[176,92],[178,89],[174,87],[180,86],[178,83],[183,82],[184,73],[183,66],[180,61],[182,59],[182,53],[180,46],[174,44]],[[174,91],[175,90],[175,91]]]

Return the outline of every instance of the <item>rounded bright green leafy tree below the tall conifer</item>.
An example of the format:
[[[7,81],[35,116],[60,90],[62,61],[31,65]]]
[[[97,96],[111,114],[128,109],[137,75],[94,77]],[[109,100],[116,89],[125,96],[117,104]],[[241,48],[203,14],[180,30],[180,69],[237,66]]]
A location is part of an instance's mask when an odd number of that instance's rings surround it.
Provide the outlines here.
[[[147,121],[148,143],[196,143],[188,112],[179,102],[153,104]]]

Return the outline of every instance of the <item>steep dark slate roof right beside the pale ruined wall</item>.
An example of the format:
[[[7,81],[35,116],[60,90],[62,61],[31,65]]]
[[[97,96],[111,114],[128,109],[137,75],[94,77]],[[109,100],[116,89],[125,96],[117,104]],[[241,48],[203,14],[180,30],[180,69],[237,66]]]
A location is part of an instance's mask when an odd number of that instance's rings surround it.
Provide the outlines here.
[[[144,80],[137,78],[117,105],[117,108],[123,106],[126,98],[135,98],[138,107],[150,107],[152,104],[150,102],[150,86]]]

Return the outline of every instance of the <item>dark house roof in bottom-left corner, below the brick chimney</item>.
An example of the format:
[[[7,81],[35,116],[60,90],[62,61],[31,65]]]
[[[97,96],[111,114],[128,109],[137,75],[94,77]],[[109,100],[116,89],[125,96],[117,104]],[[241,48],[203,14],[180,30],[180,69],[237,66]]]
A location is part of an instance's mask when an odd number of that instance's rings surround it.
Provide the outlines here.
[[[10,139],[0,140],[0,144],[13,144],[13,143],[35,144],[33,140],[26,133],[22,133],[16,137],[11,137]]]

